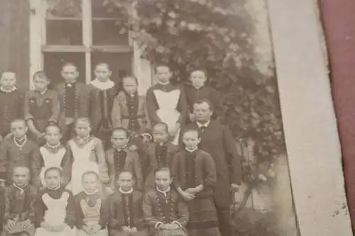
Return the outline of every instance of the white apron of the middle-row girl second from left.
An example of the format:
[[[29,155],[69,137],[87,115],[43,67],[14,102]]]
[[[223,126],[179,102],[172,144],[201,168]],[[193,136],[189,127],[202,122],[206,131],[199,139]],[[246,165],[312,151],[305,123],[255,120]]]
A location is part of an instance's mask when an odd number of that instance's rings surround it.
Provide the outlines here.
[[[40,147],[40,154],[43,157],[43,167],[40,170],[40,181],[42,181],[42,186],[45,187],[44,173],[50,167],[60,167],[62,159],[65,155],[65,147],[60,148],[57,153],[53,153],[47,150],[45,147]]]

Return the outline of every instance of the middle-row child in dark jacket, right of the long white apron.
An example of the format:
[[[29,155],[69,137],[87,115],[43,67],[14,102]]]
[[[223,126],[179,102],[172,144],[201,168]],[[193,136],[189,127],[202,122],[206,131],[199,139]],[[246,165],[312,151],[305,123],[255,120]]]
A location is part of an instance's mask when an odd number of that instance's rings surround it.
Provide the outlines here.
[[[114,186],[115,179],[124,170],[134,173],[137,179],[137,188],[143,189],[141,163],[139,162],[138,153],[128,146],[128,131],[124,128],[115,128],[112,131],[111,142],[113,147],[106,152],[111,189],[116,189],[116,186]]]

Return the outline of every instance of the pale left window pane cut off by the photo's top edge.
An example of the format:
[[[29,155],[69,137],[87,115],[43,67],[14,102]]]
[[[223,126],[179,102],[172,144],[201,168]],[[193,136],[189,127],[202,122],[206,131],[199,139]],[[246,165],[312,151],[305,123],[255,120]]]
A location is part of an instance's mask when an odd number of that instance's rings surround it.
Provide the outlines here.
[[[82,16],[81,0],[47,0],[47,17],[75,17]]]

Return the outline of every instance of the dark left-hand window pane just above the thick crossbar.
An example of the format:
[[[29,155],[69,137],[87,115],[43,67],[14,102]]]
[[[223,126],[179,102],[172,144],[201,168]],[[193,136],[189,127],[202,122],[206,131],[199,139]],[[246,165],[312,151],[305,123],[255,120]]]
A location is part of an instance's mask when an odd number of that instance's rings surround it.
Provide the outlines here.
[[[82,45],[82,21],[47,20],[47,45]]]

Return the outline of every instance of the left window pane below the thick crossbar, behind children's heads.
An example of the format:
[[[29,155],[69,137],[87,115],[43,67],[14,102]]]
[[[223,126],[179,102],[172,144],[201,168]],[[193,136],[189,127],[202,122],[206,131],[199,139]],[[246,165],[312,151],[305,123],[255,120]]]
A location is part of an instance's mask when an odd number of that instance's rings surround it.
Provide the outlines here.
[[[50,79],[50,87],[64,82],[60,72],[62,65],[66,62],[72,62],[77,65],[80,72],[78,81],[85,82],[85,54],[84,52],[45,52],[44,69]]]

